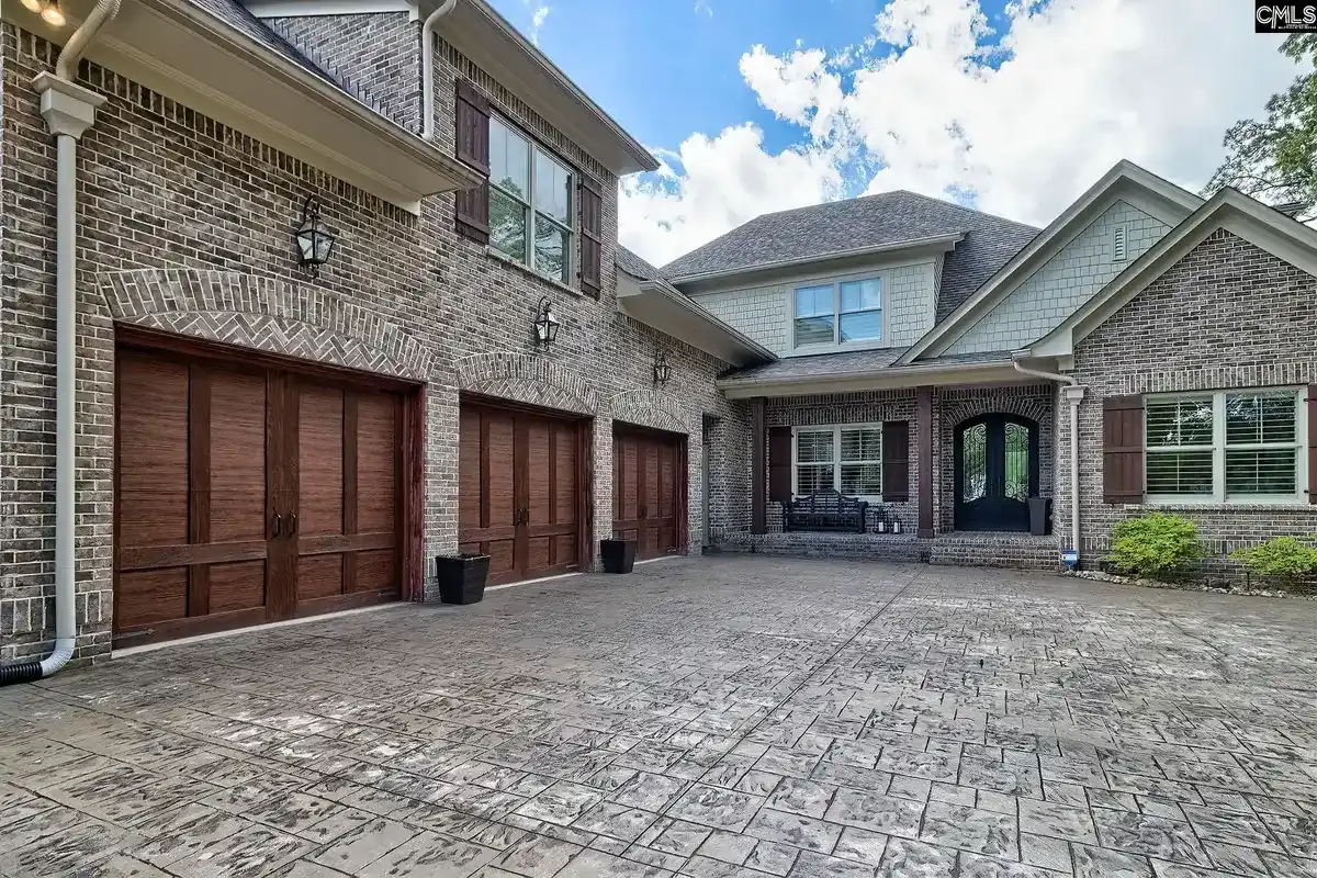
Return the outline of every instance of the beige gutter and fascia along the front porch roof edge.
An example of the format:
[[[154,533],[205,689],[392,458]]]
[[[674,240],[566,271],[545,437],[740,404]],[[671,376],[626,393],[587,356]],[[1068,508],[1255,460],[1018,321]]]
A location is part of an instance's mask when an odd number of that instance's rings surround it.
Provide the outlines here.
[[[807,378],[766,378],[761,380],[719,379],[715,387],[728,399],[752,396],[809,396],[864,390],[900,390],[923,384],[1019,384],[1021,374],[1010,359],[982,363],[950,363],[871,369],[863,371],[810,375]]]

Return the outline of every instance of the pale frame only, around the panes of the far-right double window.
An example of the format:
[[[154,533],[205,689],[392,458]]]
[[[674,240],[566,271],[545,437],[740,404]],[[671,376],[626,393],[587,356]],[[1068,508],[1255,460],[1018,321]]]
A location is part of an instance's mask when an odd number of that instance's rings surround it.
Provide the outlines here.
[[[1209,392],[1150,394],[1144,396],[1143,424],[1143,499],[1150,504],[1196,505],[1196,504],[1308,504],[1308,417],[1305,411],[1306,387],[1234,387]],[[1295,396],[1295,441],[1226,445],[1226,398],[1249,394],[1293,394]],[[1177,399],[1212,400],[1212,494],[1147,494],[1148,455],[1158,452],[1201,452],[1208,445],[1156,445],[1147,444],[1147,405],[1155,401]],[[1227,494],[1226,492],[1226,450],[1295,449],[1295,491],[1292,494]]]

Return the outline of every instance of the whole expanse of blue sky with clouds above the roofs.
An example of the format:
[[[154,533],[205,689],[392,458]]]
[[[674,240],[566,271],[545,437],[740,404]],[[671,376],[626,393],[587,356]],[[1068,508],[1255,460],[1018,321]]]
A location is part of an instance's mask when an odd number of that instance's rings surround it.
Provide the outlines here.
[[[666,163],[619,183],[656,265],[896,188],[1038,226],[1119,159],[1198,190],[1299,72],[1246,0],[491,1]]]

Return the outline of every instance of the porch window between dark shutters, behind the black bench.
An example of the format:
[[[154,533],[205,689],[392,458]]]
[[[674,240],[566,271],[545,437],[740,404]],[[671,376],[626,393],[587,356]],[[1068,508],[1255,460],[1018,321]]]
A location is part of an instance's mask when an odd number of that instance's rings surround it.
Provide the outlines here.
[[[792,458],[795,496],[839,491],[877,500],[882,495],[882,425],[797,426]]]

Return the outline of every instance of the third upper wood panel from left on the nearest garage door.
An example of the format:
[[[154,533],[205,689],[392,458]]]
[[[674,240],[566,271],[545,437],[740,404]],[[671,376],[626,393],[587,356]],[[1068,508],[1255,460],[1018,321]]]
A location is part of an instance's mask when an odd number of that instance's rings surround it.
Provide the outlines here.
[[[298,532],[342,533],[342,391],[298,394]]]

